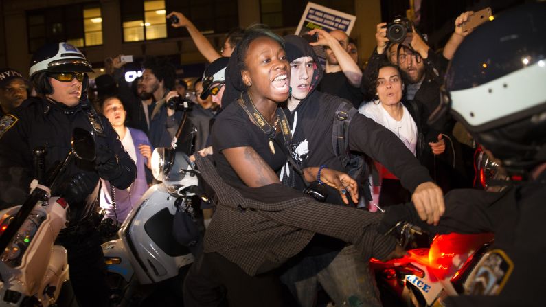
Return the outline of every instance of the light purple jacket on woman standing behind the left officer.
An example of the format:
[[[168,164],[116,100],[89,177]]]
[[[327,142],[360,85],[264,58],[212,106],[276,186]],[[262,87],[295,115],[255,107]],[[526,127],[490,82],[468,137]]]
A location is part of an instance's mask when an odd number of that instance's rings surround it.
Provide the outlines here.
[[[137,165],[137,179],[135,179],[135,182],[130,185],[130,189],[128,190],[118,190],[114,187],[116,203],[115,214],[112,210],[110,183],[101,179],[102,187],[100,191],[100,207],[106,209],[105,217],[115,220],[115,216],[117,214],[117,220],[120,223],[123,223],[133,207],[139,205],[142,194],[148,190],[145,171],[148,160],[142,156],[138,146],[140,144],[148,145],[150,147],[152,146],[150,144],[150,140],[144,132],[129,127],[127,128],[130,132],[130,136],[133,138],[133,144],[135,145],[135,152],[137,154],[137,161],[135,163]],[[152,148],[152,150],[154,150],[154,148]]]

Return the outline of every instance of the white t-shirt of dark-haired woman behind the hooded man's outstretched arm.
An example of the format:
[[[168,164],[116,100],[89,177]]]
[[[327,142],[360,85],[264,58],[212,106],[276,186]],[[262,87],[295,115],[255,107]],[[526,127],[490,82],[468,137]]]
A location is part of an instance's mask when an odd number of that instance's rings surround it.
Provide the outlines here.
[[[391,130],[400,140],[402,140],[404,145],[415,156],[417,145],[417,125],[403,104],[402,108],[403,114],[400,121],[394,120],[387,110],[383,108],[382,104],[375,104],[374,102],[362,104],[359,108],[359,113],[371,118],[376,123]]]

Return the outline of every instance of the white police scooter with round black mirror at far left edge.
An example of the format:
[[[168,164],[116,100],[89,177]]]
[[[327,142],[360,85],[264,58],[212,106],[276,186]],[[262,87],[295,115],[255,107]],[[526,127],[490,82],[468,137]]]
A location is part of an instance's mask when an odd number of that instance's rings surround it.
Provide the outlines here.
[[[0,211],[0,306],[77,306],[69,282],[67,251],[54,242],[66,225],[68,204],[51,197],[73,157],[95,159],[93,135],[72,134],[72,150],[45,178],[45,148],[34,150],[34,190],[23,205]]]

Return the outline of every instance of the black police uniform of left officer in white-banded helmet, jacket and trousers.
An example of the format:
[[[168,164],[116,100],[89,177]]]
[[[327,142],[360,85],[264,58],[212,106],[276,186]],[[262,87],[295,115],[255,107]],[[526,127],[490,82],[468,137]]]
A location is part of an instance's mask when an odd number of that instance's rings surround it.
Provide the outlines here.
[[[89,119],[93,114],[94,120]],[[71,149],[73,128],[93,131],[94,126],[102,126],[101,133],[95,130],[95,147],[109,148],[107,151],[117,156],[118,166],[110,182],[118,188],[129,187],[136,177],[135,163],[122,147],[117,133],[106,117],[91,111],[87,104],[69,107],[51,100],[30,98],[11,115],[5,115],[0,124],[0,189],[3,205],[23,203],[28,194],[28,187],[34,178],[32,150],[45,146],[45,169],[49,170],[62,161]],[[97,125],[98,124],[98,125]],[[119,169],[121,168],[121,169]],[[75,174],[84,174],[85,192],[69,203],[69,225],[60,232],[57,244],[63,245],[68,252],[70,280],[80,306],[105,306],[108,303],[108,287],[102,253],[101,238],[91,215],[97,205],[99,174],[93,162],[73,159],[67,167],[64,181]],[[62,195],[53,191],[54,196]]]

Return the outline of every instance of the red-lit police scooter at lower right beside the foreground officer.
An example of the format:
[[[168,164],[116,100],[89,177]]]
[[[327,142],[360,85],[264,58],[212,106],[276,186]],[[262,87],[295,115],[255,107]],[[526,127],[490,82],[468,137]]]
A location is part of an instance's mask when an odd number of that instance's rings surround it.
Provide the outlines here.
[[[475,171],[476,183],[489,192],[503,190],[503,181],[508,180],[505,170],[483,150],[476,152]],[[391,230],[404,247],[421,234],[419,227],[402,222]],[[433,238],[430,248],[410,249],[403,258],[387,262],[372,258],[370,266],[381,292],[391,294],[389,299],[396,297],[398,304],[444,306],[448,295],[488,295],[501,286],[510,266],[499,250],[492,249],[493,242],[488,233],[442,234]]]

